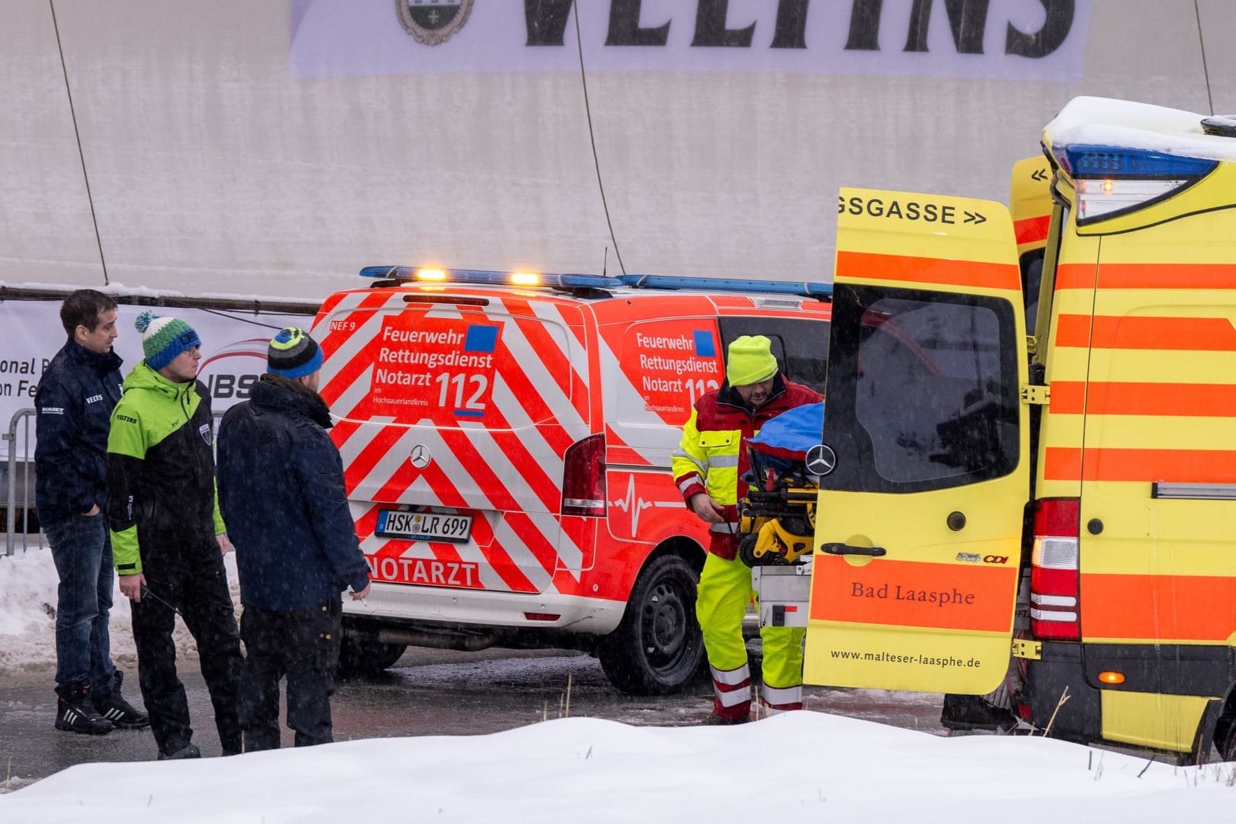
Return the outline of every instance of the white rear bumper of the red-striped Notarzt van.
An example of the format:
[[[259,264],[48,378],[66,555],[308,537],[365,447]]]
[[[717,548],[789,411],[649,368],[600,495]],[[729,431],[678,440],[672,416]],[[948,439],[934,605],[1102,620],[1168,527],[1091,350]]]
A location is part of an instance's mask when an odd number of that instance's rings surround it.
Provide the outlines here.
[[[365,601],[344,598],[344,614],[396,622],[471,624],[476,626],[557,629],[608,635],[622,621],[624,601],[557,594],[520,594],[435,589],[373,582]],[[528,615],[554,620],[529,619]]]

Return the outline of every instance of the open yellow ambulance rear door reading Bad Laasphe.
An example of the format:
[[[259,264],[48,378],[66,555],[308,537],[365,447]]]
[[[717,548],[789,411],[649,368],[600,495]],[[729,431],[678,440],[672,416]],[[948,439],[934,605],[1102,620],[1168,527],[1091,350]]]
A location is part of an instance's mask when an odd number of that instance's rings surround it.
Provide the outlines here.
[[[869,189],[842,189],[838,215],[805,680],[988,693],[1009,664],[1037,400],[1012,220]]]

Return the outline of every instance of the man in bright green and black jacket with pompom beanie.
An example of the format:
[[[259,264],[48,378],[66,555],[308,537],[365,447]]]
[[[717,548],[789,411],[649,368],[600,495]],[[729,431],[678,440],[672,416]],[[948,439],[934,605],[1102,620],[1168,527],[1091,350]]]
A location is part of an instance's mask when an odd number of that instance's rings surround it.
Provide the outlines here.
[[[132,603],[137,680],[159,758],[197,758],[176,673],[179,612],[198,643],[224,755],[241,750],[240,633],[222,557],[210,397],[197,380],[201,340],[189,324],[137,317],[146,355],[125,377],[108,436],[108,523],[120,591]]]

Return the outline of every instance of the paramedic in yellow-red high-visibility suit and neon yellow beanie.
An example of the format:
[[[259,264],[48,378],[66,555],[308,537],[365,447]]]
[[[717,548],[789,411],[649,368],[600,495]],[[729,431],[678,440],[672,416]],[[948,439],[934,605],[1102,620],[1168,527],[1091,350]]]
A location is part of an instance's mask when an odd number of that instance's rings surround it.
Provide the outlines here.
[[[709,724],[750,720],[751,673],[743,641],[743,615],[750,603],[751,570],[738,559],[738,501],[747,494],[747,440],[766,421],[805,403],[818,392],[785,380],[764,335],[743,335],[729,344],[726,381],[691,411],[674,452],[674,480],[691,511],[708,523],[708,557],[700,574],[696,615],[712,671]],[[761,703],[770,713],[802,709],[801,627],[763,627]]]

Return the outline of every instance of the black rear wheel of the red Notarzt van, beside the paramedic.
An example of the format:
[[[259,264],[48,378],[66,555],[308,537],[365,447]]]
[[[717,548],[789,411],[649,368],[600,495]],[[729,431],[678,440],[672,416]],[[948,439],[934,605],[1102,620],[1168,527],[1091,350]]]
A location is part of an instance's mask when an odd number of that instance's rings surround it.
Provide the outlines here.
[[[632,695],[669,695],[691,683],[705,657],[695,614],[698,580],[680,556],[660,556],[644,568],[622,624],[597,650],[609,683]]]

